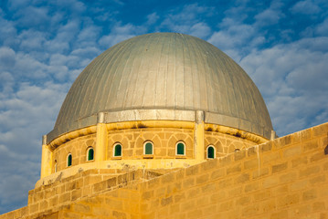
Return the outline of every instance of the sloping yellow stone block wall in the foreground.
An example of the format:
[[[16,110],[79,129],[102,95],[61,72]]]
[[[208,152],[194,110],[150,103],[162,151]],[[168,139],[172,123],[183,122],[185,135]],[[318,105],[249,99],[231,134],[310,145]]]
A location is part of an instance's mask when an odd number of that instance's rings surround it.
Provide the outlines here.
[[[0,218],[328,218],[327,136],[325,123],[123,187],[108,179],[35,216]]]

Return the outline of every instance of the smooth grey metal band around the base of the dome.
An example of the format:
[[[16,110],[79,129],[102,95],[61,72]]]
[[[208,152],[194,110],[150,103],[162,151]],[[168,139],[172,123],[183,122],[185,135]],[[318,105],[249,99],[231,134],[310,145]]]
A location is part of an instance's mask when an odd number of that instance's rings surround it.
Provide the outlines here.
[[[116,123],[124,121],[146,121],[146,120],[176,120],[176,121],[196,121],[196,113],[198,110],[161,110],[161,109],[142,109],[142,110],[118,110],[118,111],[102,111],[100,112],[103,123]],[[206,112],[205,123],[227,126],[238,130],[245,130],[250,133],[262,136],[270,140],[272,127],[271,124],[256,124],[242,118],[231,117],[223,114]],[[84,130],[97,124],[98,115],[76,121],[73,124],[64,125],[63,130],[51,130],[47,135],[47,144],[55,141],[62,136],[75,130]],[[65,139],[65,137],[62,137]]]

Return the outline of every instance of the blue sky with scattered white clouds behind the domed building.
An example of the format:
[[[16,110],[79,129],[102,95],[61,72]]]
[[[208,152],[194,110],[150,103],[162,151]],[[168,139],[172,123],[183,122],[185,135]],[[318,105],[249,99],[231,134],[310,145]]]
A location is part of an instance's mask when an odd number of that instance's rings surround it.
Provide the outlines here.
[[[132,36],[198,36],[255,81],[280,136],[328,121],[328,1],[0,2],[0,214],[27,203],[70,85]]]

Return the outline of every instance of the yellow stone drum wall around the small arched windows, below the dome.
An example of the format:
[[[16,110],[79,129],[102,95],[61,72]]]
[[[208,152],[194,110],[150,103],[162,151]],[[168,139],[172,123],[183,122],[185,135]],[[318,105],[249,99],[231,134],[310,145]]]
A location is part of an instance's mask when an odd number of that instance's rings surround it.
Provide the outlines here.
[[[153,142],[153,159],[195,159],[194,130],[177,128],[138,128],[125,130],[111,130],[108,134],[108,148],[106,160],[135,160],[143,159],[143,144],[145,141]],[[178,141],[185,143],[185,156],[176,155],[175,145]],[[113,146],[122,144],[122,157],[113,156]],[[235,149],[246,149],[257,143],[233,135],[217,131],[205,131],[205,159],[206,148],[213,145],[216,157],[222,157]],[[92,147],[96,151],[96,134],[81,136],[67,141],[54,150],[52,158],[52,173],[69,168],[68,155],[72,155],[72,166],[87,161],[87,151]]]

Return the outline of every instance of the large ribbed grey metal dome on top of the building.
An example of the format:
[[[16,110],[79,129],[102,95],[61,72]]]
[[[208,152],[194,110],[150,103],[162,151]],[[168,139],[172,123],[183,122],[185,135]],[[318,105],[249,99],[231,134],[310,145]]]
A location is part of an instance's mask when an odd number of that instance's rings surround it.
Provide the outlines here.
[[[48,140],[96,124],[99,112],[108,112],[108,121],[153,119],[122,116],[131,110],[156,110],[157,120],[170,119],[161,110],[174,111],[175,120],[188,120],[179,113],[203,110],[208,123],[267,139],[272,130],[259,90],[230,57],[194,36],[154,33],[107,49],[80,73]]]

